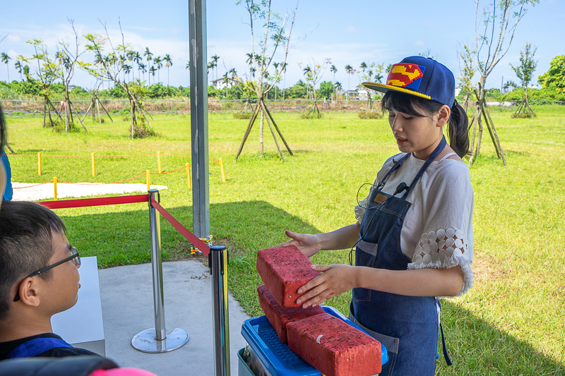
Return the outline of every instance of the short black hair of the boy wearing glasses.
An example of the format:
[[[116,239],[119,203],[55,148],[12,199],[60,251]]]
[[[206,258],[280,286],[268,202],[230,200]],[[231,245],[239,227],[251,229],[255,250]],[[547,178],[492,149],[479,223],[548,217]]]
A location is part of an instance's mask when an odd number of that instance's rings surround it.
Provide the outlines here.
[[[35,202],[4,201],[0,207],[0,320],[13,300],[11,289],[26,275],[49,265],[53,233],[64,234],[57,214]],[[39,275],[51,277],[51,271]]]

